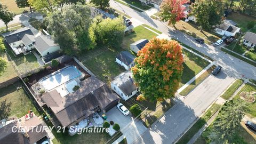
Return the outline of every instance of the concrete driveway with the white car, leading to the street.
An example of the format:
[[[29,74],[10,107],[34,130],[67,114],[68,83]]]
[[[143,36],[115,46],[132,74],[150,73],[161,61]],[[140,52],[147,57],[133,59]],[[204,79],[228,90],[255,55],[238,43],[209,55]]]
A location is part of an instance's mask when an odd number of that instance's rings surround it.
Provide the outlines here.
[[[131,114],[124,116],[117,107],[107,112],[107,121],[113,121],[119,124],[123,137],[126,137],[128,143],[135,141],[140,135],[147,130],[141,121],[134,120]]]

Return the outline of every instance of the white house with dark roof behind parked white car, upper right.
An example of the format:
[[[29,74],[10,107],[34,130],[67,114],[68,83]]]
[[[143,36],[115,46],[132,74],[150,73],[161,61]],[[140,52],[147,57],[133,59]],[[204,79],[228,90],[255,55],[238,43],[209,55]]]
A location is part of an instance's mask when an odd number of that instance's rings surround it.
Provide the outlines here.
[[[229,25],[228,23],[221,23],[215,28],[215,33],[222,36],[235,36],[240,31],[240,28]]]

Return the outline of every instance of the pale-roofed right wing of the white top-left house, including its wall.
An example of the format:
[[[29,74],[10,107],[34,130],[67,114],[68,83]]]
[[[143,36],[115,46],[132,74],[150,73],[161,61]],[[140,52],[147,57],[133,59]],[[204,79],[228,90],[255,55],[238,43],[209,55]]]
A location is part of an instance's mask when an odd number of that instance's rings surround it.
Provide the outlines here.
[[[50,37],[40,35],[35,38],[35,48],[41,54],[42,57],[51,53],[60,51],[60,46],[55,44]]]

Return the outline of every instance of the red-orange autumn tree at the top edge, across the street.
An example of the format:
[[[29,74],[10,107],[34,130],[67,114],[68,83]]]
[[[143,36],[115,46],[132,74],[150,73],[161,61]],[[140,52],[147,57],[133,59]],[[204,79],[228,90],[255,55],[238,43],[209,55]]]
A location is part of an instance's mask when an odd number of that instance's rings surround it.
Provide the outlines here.
[[[186,17],[185,7],[182,5],[187,2],[187,0],[164,0],[161,4],[159,17],[163,21],[169,21],[174,26],[176,22]]]

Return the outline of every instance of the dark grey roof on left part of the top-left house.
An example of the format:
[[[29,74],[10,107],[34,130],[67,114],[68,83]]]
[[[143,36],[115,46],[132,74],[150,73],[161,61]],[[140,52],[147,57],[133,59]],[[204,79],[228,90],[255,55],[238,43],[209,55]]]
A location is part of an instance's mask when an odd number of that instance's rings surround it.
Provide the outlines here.
[[[20,28],[15,31],[12,31],[10,33],[6,33],[3,36],[7,41],[7,43],[11,44],[11,43],[20,41],[23,38],[23,36],[25,36],[26,34],[34,35],[30,30],[30,28],[25,27],[25,28]]]

